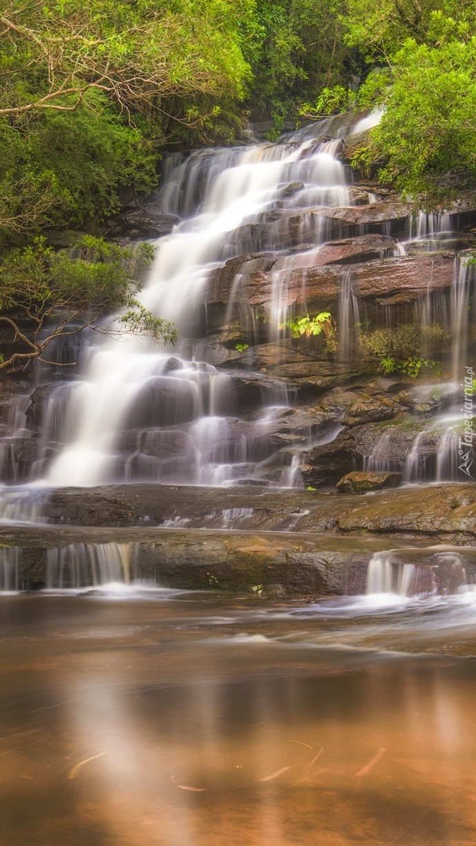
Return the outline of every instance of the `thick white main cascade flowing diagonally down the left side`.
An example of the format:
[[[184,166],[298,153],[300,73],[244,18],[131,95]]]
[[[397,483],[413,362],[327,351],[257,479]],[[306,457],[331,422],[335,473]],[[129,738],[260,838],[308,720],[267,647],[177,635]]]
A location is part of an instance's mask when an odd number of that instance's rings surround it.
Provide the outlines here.
[[[302,185],[303,205],[348,204],[345,168],[336,158],[339,144],[305,140],[202,151],[170,169],[161,207],[187,217],[157,242],[140,300],[175,321],[180,343],[159,349],[131,337],[87,350],[80,381],[59,386],[49,400],[46,423],[62,416],[55,411],[57,401],[66,409],[63,448],[37,465],[48,485],[137,480],[221,485],[257,472],[259,477],[256,467],[273,451],[265,427],[260,419],[239,419],[236,376],[197,360],[197,315],[203,317],[208,277],[234,255],[280,250],[304,237],[315,244],[325,239],[323,218],[309,219],[306,231],[296,233],[289,217],[276,211],[263,244],[260,221],[273,214],[290,182]],[[276,286],[276,320],[286,313],[283,296]],[[284,382],[259,375],[254,381],[258,408],[293,405],[293,391]]]

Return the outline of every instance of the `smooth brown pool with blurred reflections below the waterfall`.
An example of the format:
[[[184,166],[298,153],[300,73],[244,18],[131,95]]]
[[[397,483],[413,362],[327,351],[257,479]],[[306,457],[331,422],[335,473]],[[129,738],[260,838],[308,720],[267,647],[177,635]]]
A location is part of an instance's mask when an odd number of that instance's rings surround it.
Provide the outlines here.
[[[469,846],[475,616],[4,596],[0,843]]]

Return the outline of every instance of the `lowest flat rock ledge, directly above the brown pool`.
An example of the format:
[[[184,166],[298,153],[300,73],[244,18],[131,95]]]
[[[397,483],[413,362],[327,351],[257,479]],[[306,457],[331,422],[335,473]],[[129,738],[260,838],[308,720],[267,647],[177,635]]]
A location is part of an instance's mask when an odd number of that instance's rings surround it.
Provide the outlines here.
[[[161,587],[348,596],[365,592],[369,559],[389,543],[304,532],[14,527],[0,530],[0,545],[14,551],[24,587],[44,587],[52,575],[54,581],[51,551],[63,552],[63,572],[74,561],[93,585],[91,547],[101,545],[104,558],[109,545],[112,558],[121,548],[131,580]]]

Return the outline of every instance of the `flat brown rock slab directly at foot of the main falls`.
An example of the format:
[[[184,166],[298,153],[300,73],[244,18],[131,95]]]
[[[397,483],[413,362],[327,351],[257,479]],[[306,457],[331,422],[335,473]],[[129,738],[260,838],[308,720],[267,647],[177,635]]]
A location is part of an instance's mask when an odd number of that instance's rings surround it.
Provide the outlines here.
[[[57,525],[348,532],[456,544],[476,539],[473,484],[408,486],[361,497],[254,486],[123,485],[57,488],[41,499],[42,514]]]

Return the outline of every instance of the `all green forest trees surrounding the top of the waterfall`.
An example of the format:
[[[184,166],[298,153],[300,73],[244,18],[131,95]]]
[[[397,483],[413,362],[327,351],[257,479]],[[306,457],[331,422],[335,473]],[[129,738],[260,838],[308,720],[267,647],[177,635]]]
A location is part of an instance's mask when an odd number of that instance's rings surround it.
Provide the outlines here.
[[[59,305],[41,232],[100,235],[125,188],[156,189],[164,152],[233,143],[250,118],[271,117],[274,137],[375,107],[356,166],[427,207],[476,187],[473,0],[1,0],[0,309],[39,267]],[[99,242],[88,255],[112,261]]]

